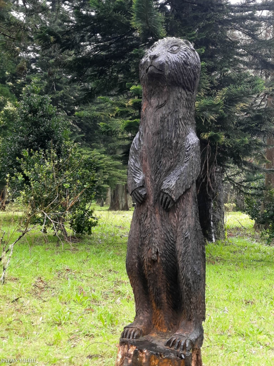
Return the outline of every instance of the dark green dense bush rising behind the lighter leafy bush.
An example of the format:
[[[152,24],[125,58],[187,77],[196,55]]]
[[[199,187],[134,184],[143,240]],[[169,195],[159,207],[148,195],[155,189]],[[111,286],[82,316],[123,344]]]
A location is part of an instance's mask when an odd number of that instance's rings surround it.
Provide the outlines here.
[[[20,170],[18,158],[23,150],[45,152],[53,147],[60,156],[64,142],[69,139],[68,123],[51,104],[50,97],[41,92],[34,80],[25,87],[22,100],[0,115],[1,126],[7,129],[0,146],[1,179]]]

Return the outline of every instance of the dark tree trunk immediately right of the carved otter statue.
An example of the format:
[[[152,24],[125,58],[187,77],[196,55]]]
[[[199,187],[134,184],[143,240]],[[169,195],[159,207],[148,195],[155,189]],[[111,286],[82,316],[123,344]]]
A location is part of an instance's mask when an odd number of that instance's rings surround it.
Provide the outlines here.
[[[197,179],[197,199],[199,219],[203,236],[209,242],[223,240],[224,224],[224,187],[220,171],[202,174]]]

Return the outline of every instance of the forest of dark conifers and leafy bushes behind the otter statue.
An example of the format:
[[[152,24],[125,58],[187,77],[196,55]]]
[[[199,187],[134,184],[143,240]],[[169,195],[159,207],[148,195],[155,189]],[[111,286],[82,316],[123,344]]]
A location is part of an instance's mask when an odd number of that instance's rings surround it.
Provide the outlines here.
[[[128,209],[127,161],[142,98],[138,65],[167,36],[191,41],[202,62],[195,110],[205,238],[225,236],[224,187],[226,196],[237,192],[240,208],[271,238],[274,1],[1,0],[0,6],[0,180],[32,214],[39,212],[36,222],[51,225],[45,215],[56,211],[61,228],[66,219],[84,234],[96,224],[87,206],[93,198],[109,195],[111,209]]]

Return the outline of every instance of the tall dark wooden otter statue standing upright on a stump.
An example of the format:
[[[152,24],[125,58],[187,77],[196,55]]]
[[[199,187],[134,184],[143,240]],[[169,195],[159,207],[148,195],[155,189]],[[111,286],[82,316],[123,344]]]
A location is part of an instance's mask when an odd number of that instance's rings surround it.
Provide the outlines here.
[[[156,42],[140,63],[140,129],[130,149],[134,210],[126,270],[136,316],[122,339],[166,333],[165,346],[199,348],[205,320],[205,246],[195,181],[194,103],[201,63],[188,41]]]

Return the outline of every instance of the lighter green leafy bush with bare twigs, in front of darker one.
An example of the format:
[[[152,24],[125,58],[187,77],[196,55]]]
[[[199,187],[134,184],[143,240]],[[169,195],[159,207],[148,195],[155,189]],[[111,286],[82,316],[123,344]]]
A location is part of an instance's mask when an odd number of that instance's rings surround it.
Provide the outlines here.
[[[65,223],[76,234],[91,234],[97,223],[87,207],[95,194],[92,161],[77,145],[66,142],[62,155],[56,150],[23,150],[20,171],[10,179],[11,191],[20,191],[19,202],[28,206],[32,223],[53,228],[67,236]]]

